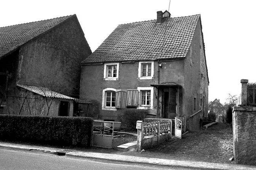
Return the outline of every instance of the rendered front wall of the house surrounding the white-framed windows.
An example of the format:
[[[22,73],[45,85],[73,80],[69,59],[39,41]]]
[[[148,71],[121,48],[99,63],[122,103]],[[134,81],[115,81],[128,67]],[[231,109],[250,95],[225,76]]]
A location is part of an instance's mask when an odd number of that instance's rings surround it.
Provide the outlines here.
[[[160,83],[176,82],[184,85],[184,61],[163,61],[160,68]],[[158,83],[158,63],[154,61],[153,79],[138,79],[139,61],[130,63],[119,63],[118,80],[104,80],[104,64],[83,65],[81,73],[80,99],[92,102],[90,115],[93,118],[117,120],[117,111],[102,110],[102,91],[106,88],[115,88],[125,91],[127,89],[137,89],[137,87],[151,87],[150,84]],[[153,109],[149,110],[149,117],[159,117],[157,115],[157,88],[154,88]],[[160,97],[160,96],[159,96]],[[83,106],[81,106],[83,107]],[[85,110],[85,109],[84,109]]]

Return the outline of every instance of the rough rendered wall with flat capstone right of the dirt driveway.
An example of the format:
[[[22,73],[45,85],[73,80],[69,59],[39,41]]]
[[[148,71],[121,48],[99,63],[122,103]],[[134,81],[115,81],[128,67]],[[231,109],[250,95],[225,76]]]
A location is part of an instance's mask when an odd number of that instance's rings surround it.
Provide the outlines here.
[[[235,163],[256,165],[256,107],[233,108]]]

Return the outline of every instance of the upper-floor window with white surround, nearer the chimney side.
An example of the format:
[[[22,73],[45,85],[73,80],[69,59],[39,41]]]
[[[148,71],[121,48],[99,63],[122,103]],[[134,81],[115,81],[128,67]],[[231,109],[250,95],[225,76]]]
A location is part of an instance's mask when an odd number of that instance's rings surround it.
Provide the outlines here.
[[[153,79],[154,61],[140,61],[138,73],[139,79]]]

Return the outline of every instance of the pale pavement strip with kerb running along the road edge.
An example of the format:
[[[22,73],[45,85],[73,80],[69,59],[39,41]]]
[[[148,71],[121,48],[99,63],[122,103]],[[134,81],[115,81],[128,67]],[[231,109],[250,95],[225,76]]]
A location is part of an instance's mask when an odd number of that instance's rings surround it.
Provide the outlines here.
[[[63,153],[61,148],[47,148],[40,146],[26,146],[26,145],[15,145],[15,144],[0,144],[0,148],[7,148],[11,150],[24,150],[41,153],[50,153],[58,155],[58,152]],[[138,157],[128,156],[121,154],[107,154],[107,153],[94,153],[94,152],[67,152],[64,155],[70,157],[84,157],[89,159],[101,159],[109,161],[118,161],[126,163],[137,163],[137,164],[150,164],[150,165],[161,165],[166,167],[179,167],[179,168],[193,168],[193,169],[208,169],[208,170],[255,170],[256,166],[250,165],[238,165],[238,164],[218,164],[210,162],[193,162],[193,161],[179,161],[173,159],[159,159],[149,157]]]

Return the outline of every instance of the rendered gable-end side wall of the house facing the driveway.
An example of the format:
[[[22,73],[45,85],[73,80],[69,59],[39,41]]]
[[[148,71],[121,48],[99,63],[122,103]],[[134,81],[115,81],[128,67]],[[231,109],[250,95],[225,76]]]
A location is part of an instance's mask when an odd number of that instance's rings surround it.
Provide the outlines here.
[[[200,22],[198,21],[195,33],[185,59],[185,83],[184,83],[184,116],[186,119],[200,110],[201,87],[201,47],[200,47]],[[194,109],[194,98],[196,107]],[[199,114],[199,113],[198,113]],[[187,129],[199,130],[200,118],[190,118]]]

